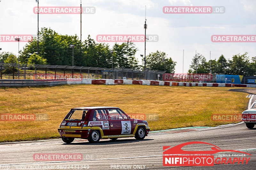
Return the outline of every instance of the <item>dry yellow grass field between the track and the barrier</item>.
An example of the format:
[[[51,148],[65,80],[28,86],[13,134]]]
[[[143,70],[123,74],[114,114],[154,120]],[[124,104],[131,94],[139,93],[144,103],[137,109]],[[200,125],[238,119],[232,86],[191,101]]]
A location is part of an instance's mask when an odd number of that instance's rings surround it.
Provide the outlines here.
[[[239,114],[246,109],[246,93],[221,87],[142,85],[64,85],[0,89],[0,114],[44,113],[48,121],[0,121],[0,142],[59,137],[57,128],[71,108],[116,106],[127,114],[157,113],[151,130],[216,126],[212,114]]]

